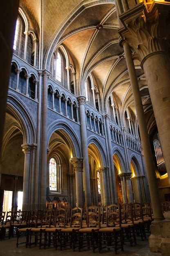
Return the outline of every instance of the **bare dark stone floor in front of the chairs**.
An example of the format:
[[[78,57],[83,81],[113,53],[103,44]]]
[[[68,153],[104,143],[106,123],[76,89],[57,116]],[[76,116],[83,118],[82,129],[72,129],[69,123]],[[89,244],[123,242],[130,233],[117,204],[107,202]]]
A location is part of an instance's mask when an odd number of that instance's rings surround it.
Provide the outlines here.
[[[25,241],[25,238],[20,238],[20,242]],[[25,245],[19,245],[18,248],[16,248],[16,237],[11,238],[8,240],[7,238],[0,241],[0,256],[94,256],[94,255],[115,255],[114,250],[111,249],[110,251],[107,251],[107,249],[103,249],[101,254],[96,250],[95,254],[91,250],[83,249],[82,252],[78,252],[76,249],[76,252],[73,252],[72,249],[63,249],[63,251],[55,250],[53,247],[50,247],[47,249],[39,249],[38,246],[35,247],[32,245],[31,248],[25,248]],[[137,245],[130,247],[130,245],[125,244],[124,245],[124,252],[121,252],[121,250],[118,251],[119,256],[161,256],[161,254],[158,253],[150,253],[150,249],[148,246],[148,240],[141,241],[137,239]]]

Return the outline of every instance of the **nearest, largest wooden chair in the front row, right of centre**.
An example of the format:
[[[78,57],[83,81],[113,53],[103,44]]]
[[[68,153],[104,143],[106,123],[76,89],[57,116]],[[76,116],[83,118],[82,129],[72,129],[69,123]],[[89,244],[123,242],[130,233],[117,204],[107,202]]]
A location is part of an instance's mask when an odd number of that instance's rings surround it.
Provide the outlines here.
[[[99,229],[99,252],[101,249],[114,248],[115,253],[121,249],[123,251],[123,234],[121,230],[120,206],[111,204],[106,208],[106,227]],[[119,227],[116,227],[119,225]],[[102,242],[104,243],[102,245]],[[113,245],[112,245],[113,244]]]

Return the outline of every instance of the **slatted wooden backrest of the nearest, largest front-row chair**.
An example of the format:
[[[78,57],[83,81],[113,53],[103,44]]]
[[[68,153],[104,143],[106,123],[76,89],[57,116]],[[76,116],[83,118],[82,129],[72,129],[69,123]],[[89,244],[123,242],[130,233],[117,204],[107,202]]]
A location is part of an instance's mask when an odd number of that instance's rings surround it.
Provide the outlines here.
[[[107,227],[115,227],[120,225],[121,227],[121,211],[119,204],[110,204],[107,206]]]

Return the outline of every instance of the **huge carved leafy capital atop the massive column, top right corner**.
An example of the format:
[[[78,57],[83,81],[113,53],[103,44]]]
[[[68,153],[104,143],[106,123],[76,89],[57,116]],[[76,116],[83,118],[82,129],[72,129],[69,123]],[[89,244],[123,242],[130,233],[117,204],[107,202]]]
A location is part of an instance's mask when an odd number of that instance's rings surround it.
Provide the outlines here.
[[[119,16],[121,38],[136,53],[139,61],[155,52],[168,52],[170,45],[170,4],[143,2]],[[141,63],[142,66],[143,63]]]

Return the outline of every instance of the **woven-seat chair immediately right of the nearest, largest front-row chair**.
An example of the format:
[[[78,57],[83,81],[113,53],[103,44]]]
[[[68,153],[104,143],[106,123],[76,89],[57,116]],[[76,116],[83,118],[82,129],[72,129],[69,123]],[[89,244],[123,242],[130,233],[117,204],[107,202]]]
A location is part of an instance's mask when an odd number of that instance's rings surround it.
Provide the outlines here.
[[[134,219],[132,213],[132,205],[125,203],[120,204],[121,210],[121,229],[123,230],[123,241],[129,241],[132,246],[133,243],[136,244],[136,234],[134,229]],[[131,222],[131,223],[130,223]],[[120,227],[116,225],[116,227]]]

